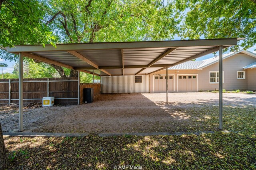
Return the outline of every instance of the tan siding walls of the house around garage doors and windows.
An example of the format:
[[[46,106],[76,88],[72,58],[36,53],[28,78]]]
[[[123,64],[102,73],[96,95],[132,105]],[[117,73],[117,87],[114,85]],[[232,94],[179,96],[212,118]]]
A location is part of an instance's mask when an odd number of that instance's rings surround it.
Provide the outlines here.
[[[251,63],[256,62],[256,58],[244,54],[238,53],[231,57],[228,57],[223,60],[223,71],[224,71],[224,84],[223,88],[226,90],[246,90],[252,88],[255,89],[255,80],[256,74],[252,69],[252,73],[250,71],[244,70],[243,67],[249,65]],[[206,90],[215,90],[218,89],[219,84],[210,84],[210,71],[218,71],[219,63],[214,63],[209,65],[208,67],[203,68],[202,70],[168,70],[168,74],[174,74],[175,76],[175,92],[177,91],[177,74],[198,74],[198,91],[206,91]],[[237,71],[245,71],[246,79],[237,79]],[[249,72],[249,75],[248,73]],[[150,75],[150,92],[153,93],[153,75],[157,74],[166,74],[166,70],[158,71]],[[252,78],[250,78],[252,77]],[[250,79],[250,80],[249,80]],[[249,80],[249,82],[248,82]],[[253,81],[253,82],[252,82]]]

